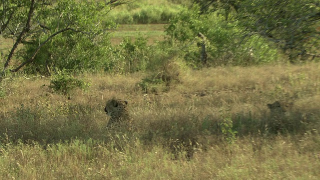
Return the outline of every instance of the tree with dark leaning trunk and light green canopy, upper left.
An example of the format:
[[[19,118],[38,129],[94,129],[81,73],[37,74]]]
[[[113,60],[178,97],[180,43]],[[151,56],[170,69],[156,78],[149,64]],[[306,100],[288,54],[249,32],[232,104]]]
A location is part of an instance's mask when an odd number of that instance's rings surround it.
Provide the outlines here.
[[[125,2],[127,1],[2,0],[0,35],[13,41],[10,50],[6,52],[2,49],[0,62],[3,63],[3,70],[10,67],[9,70],[15,72],[33,62],[44,45],[64,33],[84,36],[92,43],[99,36],[106,37],[110,29],[116,28],[116,24],[100,17],[114,5]]]

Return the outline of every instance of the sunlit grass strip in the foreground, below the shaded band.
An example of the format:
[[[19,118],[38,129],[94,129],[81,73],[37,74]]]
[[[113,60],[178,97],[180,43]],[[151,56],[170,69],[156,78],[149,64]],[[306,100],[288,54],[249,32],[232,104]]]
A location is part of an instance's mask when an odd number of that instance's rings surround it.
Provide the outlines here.
[[[305,140],[303,138],[303,140]],[[110,150],[93,140],[1,147],[0,177],[19,179],[318,179],[319,159],[298,153],[289,138],[276,138],[252,151],[248,139],[228,147],[214,146],[194,159],[171,160],[162,147],[131,144]],[[232,150],[232,152],[229,151]]]

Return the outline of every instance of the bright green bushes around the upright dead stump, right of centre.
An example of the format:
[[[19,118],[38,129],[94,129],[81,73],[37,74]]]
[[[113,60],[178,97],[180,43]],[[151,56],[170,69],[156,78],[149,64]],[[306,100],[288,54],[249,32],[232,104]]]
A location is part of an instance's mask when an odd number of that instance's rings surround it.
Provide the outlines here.
[[[193,67],[202,65],[200,44],[203,40],[198,37],[199,32],[206,38],[204,43],[209,64],[249,65],[277,58],[276,50],[267,41],[254,35],[243,40],[239,36],[243,29],[237,26],[237,22],[227,22],[214,12],[201,14],[197,5],[182,10],[170,20],[165,31],[170,36],[169,41],[175,43],[173,45],[183,52],[184,59]]]

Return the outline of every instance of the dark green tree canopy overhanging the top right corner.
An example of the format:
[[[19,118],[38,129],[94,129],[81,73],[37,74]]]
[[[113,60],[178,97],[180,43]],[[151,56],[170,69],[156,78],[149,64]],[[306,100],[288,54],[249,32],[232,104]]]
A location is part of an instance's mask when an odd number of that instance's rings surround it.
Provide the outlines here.
[[[203,0],[202,13],[232,13],[244,27],[242,35],[258,34],[289,55],[320,57],[318,46],[320,0]],[[232,10],[232,11],[231,11]],[[223,14],[223,13],[222,13]]]

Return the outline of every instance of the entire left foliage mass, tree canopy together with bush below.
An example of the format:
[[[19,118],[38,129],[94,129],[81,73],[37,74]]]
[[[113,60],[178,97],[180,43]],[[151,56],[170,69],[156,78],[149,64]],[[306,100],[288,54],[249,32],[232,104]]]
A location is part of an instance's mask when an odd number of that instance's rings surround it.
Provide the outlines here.
[[[95,67],[96,62],[92,61],[98,60],[89,56],[92,52],[98,52],[97,55],[103,58],[102,55],[105,54],[99,52],[103,51],[104,47],[100,49],[101,45],[105,46],[108,40],[107,30],[116,28],[112,21],[101,22],[103,20],[100,17],[108,12],[108,7],[109,2],[103,1],[5,1],[1,4],[1,35],[16,40],[10,51],[4,52],[6,61],[3,67],[11,65],[11,71],[17,71],[33,62],[33,70],[42,73],[45,63],[46,67],[50,67],[53,63],[64,63],[63,60],[57,62],[64,58],[71,66],[67,68]],[[55,41],[54,37],[58,35],[60,37]],[[84,36],[87,39],[84,39]],[[17,51],[21,43],[25,46]],[[55,53],[57,47],[58,55]],[[37,56],[38,53],[40,57]],[[57,56],[60,59],[56,59]],[[45,62],[46,59],[49,60]],[[17,65],[15,60],[19,60],[20,64]],[[76,66],[79,61],[84,65]]]

